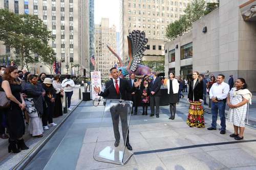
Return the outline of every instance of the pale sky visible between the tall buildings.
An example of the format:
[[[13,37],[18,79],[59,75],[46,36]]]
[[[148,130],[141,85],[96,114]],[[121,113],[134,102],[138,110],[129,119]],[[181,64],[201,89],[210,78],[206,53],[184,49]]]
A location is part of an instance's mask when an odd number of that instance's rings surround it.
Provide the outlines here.
[[[94,23],[99,24],[101,18],[110,19],[110,27],[116,26],[116,31],[120,28],[120,0],[94,0]]]

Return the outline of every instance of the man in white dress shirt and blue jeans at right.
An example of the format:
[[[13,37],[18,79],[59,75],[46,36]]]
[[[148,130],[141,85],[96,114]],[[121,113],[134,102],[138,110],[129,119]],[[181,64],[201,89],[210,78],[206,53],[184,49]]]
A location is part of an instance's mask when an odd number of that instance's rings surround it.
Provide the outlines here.
[[[229,85],[223,82],[225,79],[224,75],[218,75],[217,83],[214,83],[209,91],[211,99],[211,115],[212,123],[211,127],[207,128],[208,130],[216,130],[218,110],[221,119],[221,132],[220,134],[226,133],[226,119],[225,119],[225,107],[226,107],[226,98],[229,92]]]

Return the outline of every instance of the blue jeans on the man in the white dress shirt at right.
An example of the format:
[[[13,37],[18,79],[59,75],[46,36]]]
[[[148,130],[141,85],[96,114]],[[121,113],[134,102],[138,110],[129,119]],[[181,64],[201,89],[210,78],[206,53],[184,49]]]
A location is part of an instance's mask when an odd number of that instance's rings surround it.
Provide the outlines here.
[[[218,118],[218,110],[221,119],[221,130],[226,130],[226,118],[225,118],[225,107],[226,103],[223,101],[214,103],[211,102],[211,114],[212,114],[212,123],[211,127],[216,128],[217,126],[217,118]]]

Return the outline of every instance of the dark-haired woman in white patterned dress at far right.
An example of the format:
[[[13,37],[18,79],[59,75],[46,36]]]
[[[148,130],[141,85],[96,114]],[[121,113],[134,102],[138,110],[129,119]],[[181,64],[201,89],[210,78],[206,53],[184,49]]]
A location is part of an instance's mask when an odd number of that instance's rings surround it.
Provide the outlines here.
[[[248,103],[251,104],[251,92],[247,89],[247,84],[243,78],[238,78],[227,96],[229,107],[228,122],[234,126],[234,133],[229,135],[236,140],[244,138],[245,116]],[[239,133],[238,133],[239,130]]]

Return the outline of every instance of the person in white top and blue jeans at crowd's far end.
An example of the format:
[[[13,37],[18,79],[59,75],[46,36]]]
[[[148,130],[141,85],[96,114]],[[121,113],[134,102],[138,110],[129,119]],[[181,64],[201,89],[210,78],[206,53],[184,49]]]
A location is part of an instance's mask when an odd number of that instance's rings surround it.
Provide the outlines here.
[[[68,99],[68,110],[72,111],[70,108],[71,97],[73,95],[73,88],[75,87],[74,81],[71,79],[70,75],[66,75],[66,79],[62,81],[61,86],[65,92],[66,98]]]

